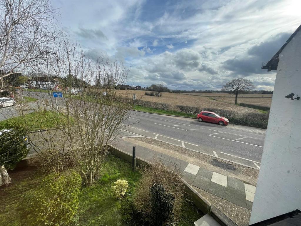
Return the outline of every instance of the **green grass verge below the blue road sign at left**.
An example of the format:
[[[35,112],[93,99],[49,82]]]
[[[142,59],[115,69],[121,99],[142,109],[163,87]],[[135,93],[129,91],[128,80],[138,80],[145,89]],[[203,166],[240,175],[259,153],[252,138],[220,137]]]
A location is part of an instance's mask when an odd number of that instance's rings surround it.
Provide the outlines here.
[[[62,114],[51,111],[43,113],[29,113],[24,116],[9,118],[0,122],[0,130],[10,128],[11,125],[23,124],[29,131],[34,129],[49,129],[66,124],[66,118]]]

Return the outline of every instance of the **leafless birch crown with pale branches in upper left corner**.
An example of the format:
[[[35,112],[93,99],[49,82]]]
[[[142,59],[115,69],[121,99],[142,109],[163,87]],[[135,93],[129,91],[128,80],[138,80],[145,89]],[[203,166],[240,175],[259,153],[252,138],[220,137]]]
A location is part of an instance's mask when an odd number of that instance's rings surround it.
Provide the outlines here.
[[[46,53],[61,34],[50,0],[0,2],[0,79],[46,62]]]

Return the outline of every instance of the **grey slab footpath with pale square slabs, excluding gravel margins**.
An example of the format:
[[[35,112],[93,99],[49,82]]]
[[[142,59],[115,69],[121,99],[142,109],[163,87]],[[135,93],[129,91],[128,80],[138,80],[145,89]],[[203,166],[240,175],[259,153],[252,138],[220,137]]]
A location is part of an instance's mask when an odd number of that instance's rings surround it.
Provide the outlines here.
[[[119,142],[114,146],[129,154],[132,154],[132,146],[136,146],[136,156],[149,162],[152,162],[154,155],[157,154],[165,164],[175,163],[182,173],[182,178],[189,184],[232,202],[237,206],[249,210],[252,209],[256,190],[256,187],[253,185],[245,184],[237,178],[227,177],[123,139],[119,139]]]

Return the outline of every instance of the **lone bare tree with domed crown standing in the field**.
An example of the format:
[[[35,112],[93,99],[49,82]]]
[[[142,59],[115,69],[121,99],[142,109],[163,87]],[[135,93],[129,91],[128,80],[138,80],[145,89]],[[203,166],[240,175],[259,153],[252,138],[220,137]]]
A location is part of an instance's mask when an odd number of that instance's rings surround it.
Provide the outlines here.
[[[238,93],[250,91],[252,89],[255,89],[255,85],[251,82],[251,80],[245,78],[236,78],[230,82],[227,82],[223,86],[222,91],[233,93],[233,95],[235,95],[235,104],[237,104]]]

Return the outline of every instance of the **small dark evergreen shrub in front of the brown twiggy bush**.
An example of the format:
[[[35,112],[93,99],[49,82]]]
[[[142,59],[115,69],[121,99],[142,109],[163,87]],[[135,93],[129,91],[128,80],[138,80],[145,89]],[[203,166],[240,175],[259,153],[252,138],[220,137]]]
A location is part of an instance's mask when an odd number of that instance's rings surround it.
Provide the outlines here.
[[[163,184],[155,183],[151,186],[151,206],[155,225],[161,226],[174,217],[172,193],[165,191]]]

